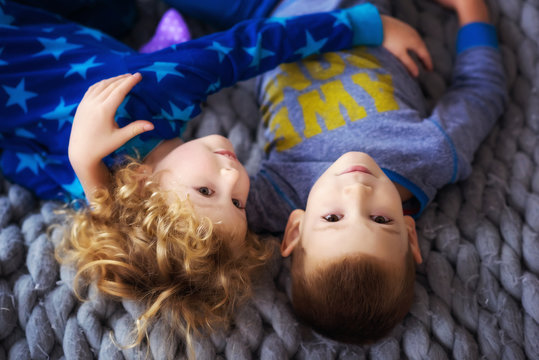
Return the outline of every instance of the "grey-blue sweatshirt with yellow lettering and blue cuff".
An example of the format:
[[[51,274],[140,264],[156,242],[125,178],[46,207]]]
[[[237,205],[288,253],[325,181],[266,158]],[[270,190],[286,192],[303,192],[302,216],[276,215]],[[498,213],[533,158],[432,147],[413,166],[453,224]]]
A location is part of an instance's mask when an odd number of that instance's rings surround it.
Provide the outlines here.
[[[418,83],[382,47],[285,64],[261,79],[265,158],[251,179],[249,226],[279,233],[305,209],[342,154],[371,155],[421,214],[442,186],[469,176],[474,152],[502,114],[505,74],[495,28],[462,27],[452,82],[428,114]]]

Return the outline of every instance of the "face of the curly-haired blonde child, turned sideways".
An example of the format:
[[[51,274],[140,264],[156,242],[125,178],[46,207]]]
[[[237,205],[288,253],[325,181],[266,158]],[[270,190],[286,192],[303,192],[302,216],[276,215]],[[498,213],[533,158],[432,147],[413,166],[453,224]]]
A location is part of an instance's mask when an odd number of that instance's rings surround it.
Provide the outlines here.
[[[197,214],[238,239],[245,238],[249,176],[227,138],[210,135],[188,141],[153,164],[152,171],[163,171],[164,189],[175,191],[181,199],[188,197]]]

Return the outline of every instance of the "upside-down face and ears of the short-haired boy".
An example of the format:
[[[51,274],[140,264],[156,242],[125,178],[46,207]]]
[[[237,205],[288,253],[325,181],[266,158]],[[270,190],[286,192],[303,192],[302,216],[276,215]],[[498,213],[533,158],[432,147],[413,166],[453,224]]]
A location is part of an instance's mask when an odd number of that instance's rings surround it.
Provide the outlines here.
[[[403,215],[395,185],[365,153],[344,154],[320,176],[305,211],[290,216],[283,255],[291,253],[294,239],[305,249],[307,271],[351,254],[399,264],[409,241],[421,262],[413,219]]]

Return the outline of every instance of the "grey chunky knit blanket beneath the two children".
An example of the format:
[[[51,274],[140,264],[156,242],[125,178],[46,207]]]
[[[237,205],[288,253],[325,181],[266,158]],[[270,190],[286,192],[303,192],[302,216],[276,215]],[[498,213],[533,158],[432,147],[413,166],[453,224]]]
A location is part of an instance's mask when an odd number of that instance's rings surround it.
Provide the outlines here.
[[[147,39],[164,9],[139,2],[147,16],[131,41]],[[368,347],[314,334],[291,311],[288,262],[277,256],[232,327],[196,339],[197,358],[539,359],[539,1],[488,3],[509,106],[477,152],[471,177],[444,188],[418,222],[424,263],[402,324]],[[434,102],[451,73],[456,18],[428,0],[394,4],[432,53],[436,70],[420,81]],[[207,30],[190,25],[195,35]],[[188,132],[227,135],[250,172],[261,156],[253,89],[248,81],[213,95]],[[164,323],[150,331],[150,345],[116,346],[130,343],[139,304],[113,302],[93,288],[90,301],[77,300],[73,271],[54,258],[60,231],[47,231],[62,224],[58,206],[0,175],[0,360],[183,358],[182,340]]]

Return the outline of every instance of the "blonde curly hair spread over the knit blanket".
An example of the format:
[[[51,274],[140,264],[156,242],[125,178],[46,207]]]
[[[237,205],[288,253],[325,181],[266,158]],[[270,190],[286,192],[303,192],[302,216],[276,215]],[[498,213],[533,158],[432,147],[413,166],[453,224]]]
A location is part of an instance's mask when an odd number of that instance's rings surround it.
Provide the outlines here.
[[[59,260],[77,269],[77,296],[94,282],[114,298],[142,302],[136,344],[165,319],[192,357],[191,334],[227,325],[273,247],[248,232],[241,254],[233,256],[227,243],[237,234],[197,217],[188,200],[170,201],[156,177],[141,176],[134,159],[114,172],[110,189],[93,195],[89,206],[69,211],[69,231],[57,249]]]

